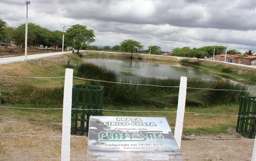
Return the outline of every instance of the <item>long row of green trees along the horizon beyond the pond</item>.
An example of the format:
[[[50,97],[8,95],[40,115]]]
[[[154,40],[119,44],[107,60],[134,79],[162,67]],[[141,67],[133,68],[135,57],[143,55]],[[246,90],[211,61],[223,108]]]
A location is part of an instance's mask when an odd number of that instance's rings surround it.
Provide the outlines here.
[[[81,27],[85,27],[81,28]],[[25,39],[25,24],[20,26],[7,26],[7,23],[0,19],[0,40],[6,41],[7,43],[15,42],[16,45],[24,47]],[[71,32],[72,31],[72,32]],[[74,32],[75,31],[75,32]],[[80,33],[80,34],[76,34]],[[29,47],[46,47],[59,49],[62,48],[62,31],[50,31],[47,28],[43,28],[34,23],[28,23],[28,45]],[[241,54],[241,52],[235,49],[227,50],[226,46],[204,46],[201,48],[191,48],[186,46],[183,48],[174,48],[172,51],[162,51],[161,46],[150,45],[146,49],[143,49],[143,45],[140,42],[126,39],[123,40],[119,45],[114,45],[110,47],[109,45],[103,46],[101,49],[96,45],[89,45],[94,42],[94,31],[86,29],[86,26],[81,26],[79,24],[73,25],[64,32],[65,37],[64,48],[72,47],[76,50],[93,50],[99,51],[103,50],[106,52],[140,52],[140,53],[150,53],[154,55],[162,55],[164,53],[172,52],[173,56],[177,57],[188,57],[188,58],[204,58],[211,57],[214,54],[227,54],[235,55]],[[75,38],[75,35],[83,35],[81,38]],[[67,39],[66,39],[67,38]],[[89,39],[88,39],[89,38]],[[128,41],[129,40],[129,41]],[[123,42],[126,42],[124,45]],[[135,42],[135,44],[134,44]],[[126,47],[125,47],[126,46]],[[127,47],[132,46],[132,47]],[[243,55],[253,55],[254,52],[251,50],[246,51]]]

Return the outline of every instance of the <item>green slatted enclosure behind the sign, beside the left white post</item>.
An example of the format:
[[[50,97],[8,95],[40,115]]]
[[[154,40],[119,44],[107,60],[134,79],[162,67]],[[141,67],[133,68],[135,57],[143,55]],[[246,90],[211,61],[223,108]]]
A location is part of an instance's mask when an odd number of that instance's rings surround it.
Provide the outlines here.
[[[102,115],[102,86],[76,84],[72,90],[71,134],[87,135],[89,118]]]

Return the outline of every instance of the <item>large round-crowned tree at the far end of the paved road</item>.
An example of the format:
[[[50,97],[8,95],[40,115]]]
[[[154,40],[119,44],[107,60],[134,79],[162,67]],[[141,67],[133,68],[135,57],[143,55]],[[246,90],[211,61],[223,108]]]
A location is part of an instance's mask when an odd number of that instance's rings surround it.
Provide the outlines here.
[[[94,31],[88,30],[86,26],[80,24],[71,26],[66,32],[67,39],[72,40],[76,44],[77,54],[79,54],[82,43],[89,45],[95,41]]]

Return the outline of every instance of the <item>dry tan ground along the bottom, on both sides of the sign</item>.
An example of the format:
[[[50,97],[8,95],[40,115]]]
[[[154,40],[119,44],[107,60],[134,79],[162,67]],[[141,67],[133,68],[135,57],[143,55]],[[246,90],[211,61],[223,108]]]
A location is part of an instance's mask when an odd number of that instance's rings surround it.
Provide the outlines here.
[[[40,123],[8,117],[0,119],[0,160],[61,158],[61,123]],[[86,161],[88,137],[71,137],[71,158]],[[248,161],[254,139],[228,135],[186,135],[182,138],[184,161]],[[250,159],[249,159],[250,160]]]

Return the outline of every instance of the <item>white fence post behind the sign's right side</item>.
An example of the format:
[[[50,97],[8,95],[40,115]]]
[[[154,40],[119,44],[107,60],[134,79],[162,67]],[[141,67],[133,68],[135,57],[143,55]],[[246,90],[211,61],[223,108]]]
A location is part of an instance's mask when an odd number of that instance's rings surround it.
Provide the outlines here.
[[[185,113],[186,95],[187,95],[187,77],[181,77],[178,109],[177,109],[177,116],[176,116],[176,123],[175,123],[175,134],[174,134],[174,138],[180,149],[181,149],[181,141],[182,141],[182,129],[183,129],[183,120],[184,120],[184,113]]]

